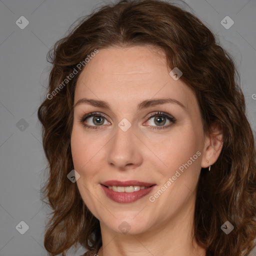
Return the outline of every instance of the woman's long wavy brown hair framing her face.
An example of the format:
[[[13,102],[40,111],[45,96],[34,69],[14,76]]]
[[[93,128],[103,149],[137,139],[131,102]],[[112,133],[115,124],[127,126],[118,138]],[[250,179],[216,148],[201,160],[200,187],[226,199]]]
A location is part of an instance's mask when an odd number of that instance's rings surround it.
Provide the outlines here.
[[[197,97],[205,134],[214,124],[223,135],[220,156],[212,171],[201,171],[197,184],[195,238],[207,256],[247,255],[256,236],[256,156],[237,68],[197,17],[161,0],[121,0],[100,7],[73,24],[48,52],[48,94],[37,113],[49,167],[42,193],[53,210],[44,246],[56,255],[79,243],[90,251],[102,245],[98,219],[84,204],[76,183],[67,179],[73,169],[74,90],[82,71],[77,64],[95,49],[147,44],[164,50],[171,69],[182,70],[180,79]],[[74,68],[77,74],[63,84]],[[226,220],[234,226],[228,235],[220,229]]]

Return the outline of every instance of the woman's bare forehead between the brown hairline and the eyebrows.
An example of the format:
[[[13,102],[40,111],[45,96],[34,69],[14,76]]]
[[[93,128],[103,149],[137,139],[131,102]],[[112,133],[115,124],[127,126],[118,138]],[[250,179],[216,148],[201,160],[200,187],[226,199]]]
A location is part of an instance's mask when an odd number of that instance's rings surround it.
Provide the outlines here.
[[[85,97],[121,103],[171,97],[186,107],[195,105],[192,90],[170,77],[164,52],[153,46],[109,47],[99,52],[80,73],[76,102]]]

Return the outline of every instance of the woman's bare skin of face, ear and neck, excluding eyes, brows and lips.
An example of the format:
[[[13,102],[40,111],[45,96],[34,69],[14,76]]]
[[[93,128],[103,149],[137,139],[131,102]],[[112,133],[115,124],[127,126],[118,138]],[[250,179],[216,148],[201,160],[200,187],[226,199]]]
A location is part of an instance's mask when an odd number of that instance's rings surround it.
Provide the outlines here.
[[[74,104],[86,97],[107,101],[111,107],[77,104],[71,133],[74,168],[80,174],[77,186],[100,221],[103,246],[99,256],[205,255],[205,249],[192,238],[195,188],[201,167],[213,164],[221,151],[221,135],[204,134],[193,91],[181,79],[174,80],[169,71],[164,53],[156,47],[115,46],[99,49],[78,77]],[[166,97],[184,107],[165,103],[137,110],[142,100]],[[80,118],[94,111],[105,116],[102,125],[84,127]],[[153,129],[159,127],[155,117],[147,116],[157,111],[172,115],[175,123],[166,118],[161,124],[165,128]],[[92,118],[84,123],[97,126]],[[131,124],[127,131],[118,127],[123,118]],[[197,151],[198,158],[158,198],[149,201]],[[118,203],[100,185],[110,179],[156,186],[137,201]],[[125,234],[118,228],[123,221],[130,227]]]

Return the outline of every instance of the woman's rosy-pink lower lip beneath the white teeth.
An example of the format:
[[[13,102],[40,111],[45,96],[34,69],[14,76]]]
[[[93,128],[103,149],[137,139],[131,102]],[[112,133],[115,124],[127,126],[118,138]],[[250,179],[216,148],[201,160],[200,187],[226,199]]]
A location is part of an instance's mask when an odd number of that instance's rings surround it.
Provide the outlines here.
[[[101,187],[103,188],[108,198],[110,198],[115,202],[122,202],[122,203],[134,202],[142,198],[143,196],[147,195],[154,188],[154,186],[155,185],[144,188],[144,189],[140,189],[138,191],[127,193],[127,192],[116,192],[104,185],[101,185]]]

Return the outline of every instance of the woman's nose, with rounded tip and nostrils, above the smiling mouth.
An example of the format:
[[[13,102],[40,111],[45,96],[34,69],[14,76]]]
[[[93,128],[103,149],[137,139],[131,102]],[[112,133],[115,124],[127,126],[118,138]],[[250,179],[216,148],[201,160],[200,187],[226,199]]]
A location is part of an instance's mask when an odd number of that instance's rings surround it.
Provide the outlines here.
[[[118,126],[113,138],[109,141],[107,163],[119,170],[133,169],[142,163],[141,141],[135,135],[132,126],[123,131]]]

